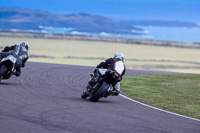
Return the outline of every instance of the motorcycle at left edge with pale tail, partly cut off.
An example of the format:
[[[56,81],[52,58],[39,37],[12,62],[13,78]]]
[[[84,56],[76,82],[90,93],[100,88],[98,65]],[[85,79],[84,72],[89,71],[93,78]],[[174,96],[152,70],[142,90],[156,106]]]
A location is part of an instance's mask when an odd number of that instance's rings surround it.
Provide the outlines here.
[[[0,64],[0,81],[9,79],[15,72],[17,59],[13,55],[8,55],[1,60]]]

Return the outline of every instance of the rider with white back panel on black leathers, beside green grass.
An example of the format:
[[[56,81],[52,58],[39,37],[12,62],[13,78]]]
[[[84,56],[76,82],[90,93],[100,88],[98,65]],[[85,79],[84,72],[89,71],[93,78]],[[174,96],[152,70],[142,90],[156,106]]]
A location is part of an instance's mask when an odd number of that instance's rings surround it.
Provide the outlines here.
[[[90,80],[89,84],[96,84],[99,80],[99,68],[105,68],[108,69],[105,73],[106,75],[106,81],[111,83],[114,87],[114,90],[112,92],[112,95],[119,95],[120,93],[120,81],[122,80],[123,75],[126,72],[126,67],[124,65],[124,55],[121,52],[117,52],[114,54],[113,58],[109,58],[105,60],[104,62],[101,62],[99,65],[97,65],[96,69],[94,70],[94,76],[92,80]],[[112,74],[115,72],[115,74],[118,78],[114,79]]]

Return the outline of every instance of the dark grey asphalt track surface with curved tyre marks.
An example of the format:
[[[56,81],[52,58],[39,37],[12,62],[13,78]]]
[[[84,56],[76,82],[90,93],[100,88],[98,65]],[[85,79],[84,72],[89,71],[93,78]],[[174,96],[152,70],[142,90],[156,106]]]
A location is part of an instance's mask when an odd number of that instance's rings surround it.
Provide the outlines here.
[[[27,63],[0,82],[0,133],[200,133],[200,122],[121,96],[80,98],[92,67]],[[127,75],[156,72],[127,71]]]

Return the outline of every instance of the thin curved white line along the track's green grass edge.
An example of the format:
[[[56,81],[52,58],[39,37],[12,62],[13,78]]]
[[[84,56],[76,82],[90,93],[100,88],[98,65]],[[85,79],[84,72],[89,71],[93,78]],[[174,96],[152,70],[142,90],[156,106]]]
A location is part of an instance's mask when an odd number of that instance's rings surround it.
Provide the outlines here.
[[[195,119],[195,118],[192,118],[192,117],[188,117],[188,116],[180,115],[180,114],[177,114],[177,113],[169,112],[169,111],[166,111],[166,110],[163,110],[163,109],[159,109],[159,108],[156,108],[156,107],[153,107],[153,106],[150,106],[150,105],[141,103],[141,102],[139,102],[139,101],[136,101],[136,100],[134,100],[134,99],[131,99],[131,98],[129,98],[129,97],[127,97],[127,96],[124,96],[124,95],[122,95],[122,94],[119,94],[119,95],[122,96],[122,97],[124,97],[124,98],[126,98],[126,99],[128,99],[128,100],[130,100],[130,101],[132,101],[132,102],[141,104],[141,105],[143,105],[143,106],[146,106],[146,107],[149,107],[149,108],[152,108],[152,109],[155,109],[155,110],[159,110],[159,111],[162,111],[162,112],[165,112],[165,113],[168,113],[168,114],[172,114],[172,115],[176,115],[176,116],[180,116],[180,117],[184,117],[184,118],[187,118],[187,119],[191,119],[191,120],[195,120],[195,121],[199,121],[199,122],[200,122],[199,119]]]

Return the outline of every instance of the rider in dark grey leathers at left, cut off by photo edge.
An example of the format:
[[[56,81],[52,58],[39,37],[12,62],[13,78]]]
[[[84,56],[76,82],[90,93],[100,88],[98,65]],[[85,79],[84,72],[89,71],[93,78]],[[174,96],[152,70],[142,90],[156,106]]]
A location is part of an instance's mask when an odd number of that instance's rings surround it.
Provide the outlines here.
[[[18,77],[21,75],[21,67],[25,66],[25,63],[29,58],[28,49],[29,49],[29,44],[27,42],[22,42],[19,45],[15,44],[12,46],[6,46],[0,53],[0,61],[4,57],[7,57],[8,55],[11,55],[11,54],[15,58],[17,58],[18,65],[17,65],[16,72],[14,73],[14,75]]]

